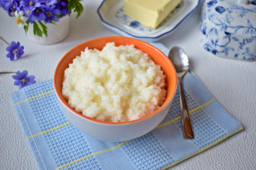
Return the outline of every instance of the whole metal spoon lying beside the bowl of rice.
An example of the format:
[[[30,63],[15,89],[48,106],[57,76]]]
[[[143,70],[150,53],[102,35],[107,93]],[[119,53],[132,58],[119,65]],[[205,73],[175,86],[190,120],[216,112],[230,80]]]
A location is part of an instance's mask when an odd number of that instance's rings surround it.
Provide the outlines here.
[[[183,138],[185,139],[192,139],[194,138],[190,118],[189,118],[189,111],[187,110],[187,102],[185,99],[185,93],[183,89],[183,77],[186,75],[187,71],[189,71],[189,58],[185,51],[180,48],[179,46],[174,46],[169,54],[168,57],[172,61],[174,65],[177,77],[180,83],[180,95],[181,95],[181,120],[183,125]]]

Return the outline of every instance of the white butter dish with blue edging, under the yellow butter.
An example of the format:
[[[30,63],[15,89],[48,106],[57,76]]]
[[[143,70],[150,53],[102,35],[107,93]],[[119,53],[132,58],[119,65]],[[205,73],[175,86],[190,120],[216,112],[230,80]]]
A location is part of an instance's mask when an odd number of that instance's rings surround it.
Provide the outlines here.
[[[157,29],[148,28],[127,17],[123,12],[124,0],[105,0],[98,7],[102,24],[122,36],[128,36],[156,42],[166,36],[183,22],[199,5],[199,0],[182,0],[181,3],[164,19]]]

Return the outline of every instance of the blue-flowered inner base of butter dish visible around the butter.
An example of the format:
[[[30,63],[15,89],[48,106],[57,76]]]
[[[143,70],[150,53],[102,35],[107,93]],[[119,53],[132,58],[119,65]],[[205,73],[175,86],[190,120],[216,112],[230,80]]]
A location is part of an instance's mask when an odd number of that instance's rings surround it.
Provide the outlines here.
[[[181,3],[173,11],[170,12],[170,14],[164,19],[164,21],[162,22],[162,24],[160,24],[160,26],[158,26],[158,28],[160,28],[161,26],[164,26],[164,24],[166,24],[170,20],[170,18],[173,16],[173,13],[176,13],[177,11],[179,11],[179,9],[181,9],[181,7],[183,7],[183,4],[184,4],[184,1],[181,1]],[[115,17],[120,23],[122,23],[125,26],[131,27],[135,31],[142,32],[142,33],[154,31],[154,29],[148,28],[146,26],[142,26],[139,22],[125,15],[123,7],[117,11]]]

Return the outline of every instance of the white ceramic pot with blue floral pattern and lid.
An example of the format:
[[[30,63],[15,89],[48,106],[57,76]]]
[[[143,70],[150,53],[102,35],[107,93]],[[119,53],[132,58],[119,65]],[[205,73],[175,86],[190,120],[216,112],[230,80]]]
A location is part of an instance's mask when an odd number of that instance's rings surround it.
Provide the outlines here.
[[[205,1],[201,42],[205,50],[238,60],[256,60],[256,5],[234,1]]]

